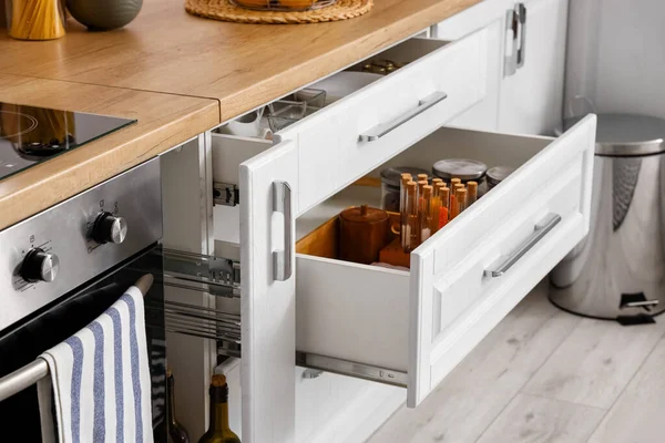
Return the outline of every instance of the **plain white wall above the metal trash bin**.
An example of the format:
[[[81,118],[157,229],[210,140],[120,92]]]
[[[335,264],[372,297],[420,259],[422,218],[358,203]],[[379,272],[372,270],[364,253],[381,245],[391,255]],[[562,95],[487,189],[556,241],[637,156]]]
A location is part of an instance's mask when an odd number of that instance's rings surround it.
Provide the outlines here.
[[[665,1],[571,0],[569,10],[566,115],[582,94],[598,112],[665,119]]]

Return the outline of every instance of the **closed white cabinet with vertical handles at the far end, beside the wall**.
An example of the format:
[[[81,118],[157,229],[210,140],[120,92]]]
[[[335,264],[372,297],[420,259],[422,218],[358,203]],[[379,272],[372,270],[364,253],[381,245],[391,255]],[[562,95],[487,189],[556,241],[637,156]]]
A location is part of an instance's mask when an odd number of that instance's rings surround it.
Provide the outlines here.
[[[524,7],[525,23],[513,27],[513,18],[519,21],[513,13],[520,12],[520,6]],[[452,125],[551,134],[561,124],[567,6],[569,0],[485,0],[432,27],[432,34],[444,40],[481,28],[490,35],[485,99]],[[521,50],[521,61],[516,50]]]

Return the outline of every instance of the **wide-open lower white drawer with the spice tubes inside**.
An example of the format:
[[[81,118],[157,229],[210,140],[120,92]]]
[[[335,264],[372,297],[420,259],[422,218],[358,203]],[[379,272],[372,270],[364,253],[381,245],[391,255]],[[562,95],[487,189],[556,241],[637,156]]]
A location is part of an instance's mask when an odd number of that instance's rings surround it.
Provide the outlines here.
[[[423,141],[421,157],[439,143],[536,154],[416,249],[410,272],[298,255],[296,348],[406,372],[416,406],[586,234],[594,134],[591,116],[551,143],[447,128]]]

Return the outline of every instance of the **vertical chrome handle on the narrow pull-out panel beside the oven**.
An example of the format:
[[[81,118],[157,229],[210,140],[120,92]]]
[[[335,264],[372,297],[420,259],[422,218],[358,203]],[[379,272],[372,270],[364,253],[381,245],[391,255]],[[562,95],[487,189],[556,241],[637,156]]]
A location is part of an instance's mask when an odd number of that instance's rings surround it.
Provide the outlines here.
[[[284,215],[284,249],[273,251],[273,278],[286,281],[293,274],[294,216],[291,212],[291,188],[286,182],[273,183],[273,210]]]

